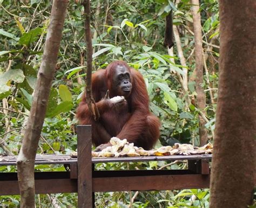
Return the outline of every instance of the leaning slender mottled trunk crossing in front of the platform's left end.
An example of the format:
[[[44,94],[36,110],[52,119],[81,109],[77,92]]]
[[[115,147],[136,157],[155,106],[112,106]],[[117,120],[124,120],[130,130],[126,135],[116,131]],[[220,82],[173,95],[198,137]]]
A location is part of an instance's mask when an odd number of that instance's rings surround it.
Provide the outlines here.
[[[68,0],[55,0],[52,3],[51,20],[46,36],[43,60],[38,72],[35,95],[26,125],[22,147],[17,158],[21,207],[35,207],[35,157],[44,123],[51,83],[55,74],[68,2]]]

